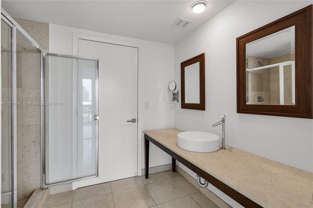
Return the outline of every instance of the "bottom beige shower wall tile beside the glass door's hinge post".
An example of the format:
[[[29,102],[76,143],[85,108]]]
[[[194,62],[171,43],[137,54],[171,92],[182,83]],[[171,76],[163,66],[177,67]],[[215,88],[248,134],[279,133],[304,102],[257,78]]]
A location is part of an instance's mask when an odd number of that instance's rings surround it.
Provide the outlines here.
[[[29,198],[40,187],[40,160],[23,163],[23,198]]]

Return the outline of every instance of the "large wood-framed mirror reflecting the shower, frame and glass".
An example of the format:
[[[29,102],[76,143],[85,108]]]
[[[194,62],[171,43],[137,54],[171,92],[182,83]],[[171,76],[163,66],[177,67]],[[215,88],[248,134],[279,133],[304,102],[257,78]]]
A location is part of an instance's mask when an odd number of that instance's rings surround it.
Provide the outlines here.
[[[312,10],[237,38],[237,113],[313,118]]]

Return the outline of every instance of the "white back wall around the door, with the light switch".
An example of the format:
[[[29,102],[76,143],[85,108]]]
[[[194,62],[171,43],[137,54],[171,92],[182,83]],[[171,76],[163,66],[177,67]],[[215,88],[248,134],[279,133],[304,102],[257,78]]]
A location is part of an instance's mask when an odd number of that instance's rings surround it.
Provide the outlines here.
[[[148,42],[110,34],[103,34],[77,28],[50,24],[50,53],[72,54],[73,33],[86,34],[106,39],[140,44],[141,89],[142,89],[142,130],[173,128],[174,102],[168,90],[168,83],[174,80],[174,46],[156,42]],[[76,54],[74,54],[76,55]],[[150,103],[145,108],[144,102]],[[139,132],[142,134],[142,132]],[[144,168],[144,145],[142,134],[142,168]],[[99,149],[101,151],[101,149]],[[150,147],[150,166],[171,163],[171,158],[162,150]],[[139,173],[141,174],[141,173]]]

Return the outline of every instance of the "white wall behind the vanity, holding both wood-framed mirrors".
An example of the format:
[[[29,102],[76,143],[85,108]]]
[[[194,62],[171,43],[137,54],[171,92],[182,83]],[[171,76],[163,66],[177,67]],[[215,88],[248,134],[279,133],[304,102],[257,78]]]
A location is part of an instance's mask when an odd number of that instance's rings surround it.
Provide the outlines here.
[[[175,128],[221,136],[221,127],[211,125],[228,113],[226,145],[313,172],[313,120],[236,113],[236,38],[311,3],[235,1],[178,42],[175,81],[179,90],[180,62],[205,53],[206,110],[177,105]]]

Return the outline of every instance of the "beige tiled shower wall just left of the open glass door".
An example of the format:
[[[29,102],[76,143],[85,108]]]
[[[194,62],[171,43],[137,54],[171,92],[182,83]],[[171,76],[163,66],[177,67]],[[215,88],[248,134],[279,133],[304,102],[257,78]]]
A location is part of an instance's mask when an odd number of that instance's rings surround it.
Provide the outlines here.
[[[45,51],[49,47],[49,24],[14,18]],[[17,32],[17,186],[18,200],[40,188],[40,53]]]

